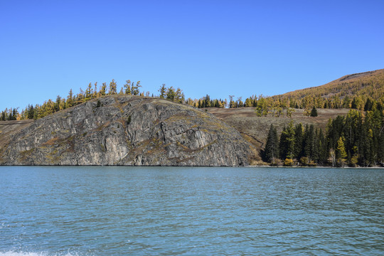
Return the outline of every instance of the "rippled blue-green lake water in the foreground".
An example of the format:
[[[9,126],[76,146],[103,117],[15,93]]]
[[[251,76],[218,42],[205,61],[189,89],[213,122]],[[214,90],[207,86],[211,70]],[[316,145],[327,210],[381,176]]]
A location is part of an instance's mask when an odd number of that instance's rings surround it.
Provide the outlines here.
[[[384,255],[383,169],[0,167],[0,255]]]

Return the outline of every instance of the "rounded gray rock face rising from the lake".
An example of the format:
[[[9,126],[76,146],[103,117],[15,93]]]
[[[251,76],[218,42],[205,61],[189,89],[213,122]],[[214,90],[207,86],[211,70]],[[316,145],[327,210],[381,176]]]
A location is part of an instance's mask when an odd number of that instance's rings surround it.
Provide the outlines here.
[[[14,135],[6,165],[246,166],[250,145],[213,115],[157,98],[101,97]]]

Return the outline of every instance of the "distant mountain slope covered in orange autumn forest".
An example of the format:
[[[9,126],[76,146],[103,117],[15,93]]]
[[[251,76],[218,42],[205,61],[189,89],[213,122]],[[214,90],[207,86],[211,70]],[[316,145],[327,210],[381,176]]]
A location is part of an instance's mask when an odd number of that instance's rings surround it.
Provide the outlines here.
[[[351,107],[353,97],[364,104],[368,98],[384,101],[384,69],[345,75],[325,85],[308,87],[302,90],[275,95],[274,99],[288,98],[293,102],[300,102],[304,97],[319,98],[334,101],[341,100],[339,107]],[[346,98],[346,102],[342,102]]]

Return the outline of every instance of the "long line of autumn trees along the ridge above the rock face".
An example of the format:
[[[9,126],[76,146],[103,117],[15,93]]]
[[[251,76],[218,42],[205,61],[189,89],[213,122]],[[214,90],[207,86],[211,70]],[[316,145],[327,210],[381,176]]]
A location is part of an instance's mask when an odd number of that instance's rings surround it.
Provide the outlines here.
[[[296,109],[304,109],[304,114],[307,116],[316,116],[316,108],[351,108],[356,110],[383,110],[384,95],[381,97],[368,97],[366,95],[356,95],[349,97],[345,95],[341,100],[337,95],[333,97],[321,97],[321,95],[306,95],[304,97],[296,97],[293,92],[289,93],[289,97],[265,97],[259,95],[258,97],[252,95],[247,97],[245,101],[242,97],[235,100],[234,95],[229,95],[227,99],[212,99],[210,95],[201,97],[200,99],[186,99],[183,90],[180,88],[166,87],[165,84],[159,88],[159,95],[151,94],[150,92],[141,92],[142,85],[140,81],[131,82],[127,80],[125,84],[117,90],[117,83],[112,80],[109,85],[103,82],[100,87],[97,87],[97,82],[94,85],[89,83],[86,90],[80,88],[80,92],[75,95],[73,90],[70,89],[67,97],[60,97],[58,95],[56,100],[47,100],[42,105],[28,105],[26,108],[18,112],[18,108],[6,109],[1,112],[0,120],[14,120],[14,119],[38,119],[45,117],[48,114],[64,110],[68,107],[79,105],[88,100],[102,97],[104,95],[142,95],[146,97],[160,97],[162,99],[171,100],[178,103],[191,105],[198,108],[207,107],[254,107],[257,116],[272,115],[274,117],[292,117],[292,113]],[[321,90],[321,89],[318,89]],[[302,92],[297,92],[302,93]],[[299,94],[300,95],[300,94]]]

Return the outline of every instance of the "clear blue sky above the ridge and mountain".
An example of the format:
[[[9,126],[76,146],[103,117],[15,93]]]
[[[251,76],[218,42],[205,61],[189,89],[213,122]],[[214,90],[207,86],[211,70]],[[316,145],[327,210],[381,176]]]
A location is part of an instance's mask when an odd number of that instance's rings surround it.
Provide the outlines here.
[[[0,0],[0,110],[112,79],[244,99],[381,68],[383,0]]]

